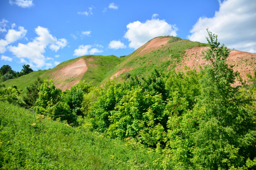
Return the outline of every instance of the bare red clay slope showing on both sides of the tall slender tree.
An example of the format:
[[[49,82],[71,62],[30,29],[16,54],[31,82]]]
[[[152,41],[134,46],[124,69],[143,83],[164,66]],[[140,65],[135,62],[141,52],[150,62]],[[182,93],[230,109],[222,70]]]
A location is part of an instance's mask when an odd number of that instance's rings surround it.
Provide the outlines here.
[[[192,47],[186,50],[185,55],[182,57],[182,62],[177,65],[176,70],[184,71],[184,65],[191,69],[199,70],[199,65],[207,65],[207,61],[202,59],[202,51],[207,50],[208,47]],[[227,63],[234,65],[233,69],[240,72],[243,80],[247,79],[246,73],[253,75],[256,69],[256,54],[249,52],[242,52],[237,50],[231,50]],[[236,81],[235,85],[240,85],[240,82]]]

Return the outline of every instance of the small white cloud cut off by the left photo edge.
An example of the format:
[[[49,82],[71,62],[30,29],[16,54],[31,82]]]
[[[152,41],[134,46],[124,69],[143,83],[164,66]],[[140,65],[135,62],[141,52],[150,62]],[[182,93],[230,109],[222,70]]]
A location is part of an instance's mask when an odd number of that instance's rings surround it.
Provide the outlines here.
[[[19,27],[19,30],[8,30],[8,33],[5,35],[5,40],[0,40],[0,53],[4,53],[6,51],[6,46],[15,42],[16,40],[23,38],[27,30],[24,29],[24,27]]]

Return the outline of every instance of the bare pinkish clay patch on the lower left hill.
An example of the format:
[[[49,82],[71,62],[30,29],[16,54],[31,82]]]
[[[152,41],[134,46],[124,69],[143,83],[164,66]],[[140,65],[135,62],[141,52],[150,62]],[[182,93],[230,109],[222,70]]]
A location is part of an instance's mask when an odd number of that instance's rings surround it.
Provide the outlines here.
[[[86,72],[88,69],[84,59],[79,59],[60,70],[54,71],[50,79],[54,80],[54,84],[57,88],[61,88],[62,90],[69,89],[76,85],[79,80],[82,79],[84,72]],[[69,81],[72,79],[72,81]]]

